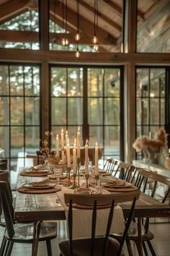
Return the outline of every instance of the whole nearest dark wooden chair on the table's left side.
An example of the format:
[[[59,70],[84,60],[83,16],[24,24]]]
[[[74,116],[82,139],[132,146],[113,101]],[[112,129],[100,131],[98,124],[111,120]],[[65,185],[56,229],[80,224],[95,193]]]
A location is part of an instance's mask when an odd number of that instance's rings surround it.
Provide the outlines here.
[[[2,174],[1,174],[2,175]],[[1,242],[0,256],[10,256],[14,243],[33,242],[33,223],[15,223],[9,182],[0,181],[1,204],[4,210],[6,229]],[[57,223],[42,222],[39,241],[45,241],[48,256],[52,256],[50,240],[57,237]]]

